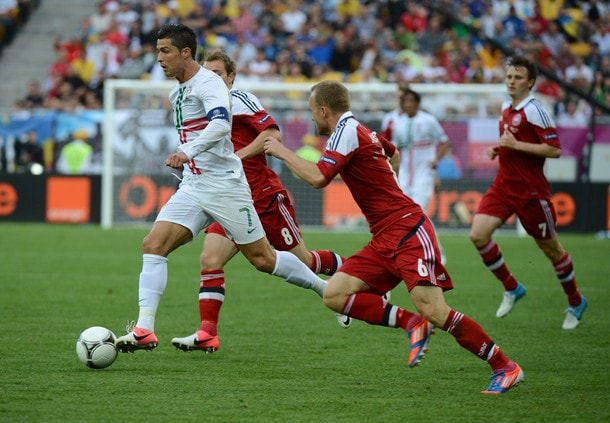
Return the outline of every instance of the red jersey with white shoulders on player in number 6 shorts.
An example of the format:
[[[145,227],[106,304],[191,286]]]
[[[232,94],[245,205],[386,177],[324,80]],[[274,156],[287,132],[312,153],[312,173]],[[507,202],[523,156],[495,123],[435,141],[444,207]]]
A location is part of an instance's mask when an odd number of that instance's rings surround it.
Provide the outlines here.
[[[346,112],[318,161],[318,168],[328,182],[341,175],[373,234],[405,215],[423,213],[398,186],[389,161],[395,151],[392,143],[377,137],[352,112]]]

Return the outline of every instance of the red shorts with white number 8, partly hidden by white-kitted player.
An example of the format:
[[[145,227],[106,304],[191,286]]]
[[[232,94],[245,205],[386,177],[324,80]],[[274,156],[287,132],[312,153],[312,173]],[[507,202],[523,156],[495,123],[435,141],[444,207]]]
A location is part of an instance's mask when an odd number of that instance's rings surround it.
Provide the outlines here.
[[[276,192],[269,201],[264,202],[264,210],[255,203],[258,216],[263,224],[267,239],[279,251],[290,251],[303,241],[301,229],[296,220],[294,207],[286,191]],[[227,236],[218,222],[212,223],[205,233]]]

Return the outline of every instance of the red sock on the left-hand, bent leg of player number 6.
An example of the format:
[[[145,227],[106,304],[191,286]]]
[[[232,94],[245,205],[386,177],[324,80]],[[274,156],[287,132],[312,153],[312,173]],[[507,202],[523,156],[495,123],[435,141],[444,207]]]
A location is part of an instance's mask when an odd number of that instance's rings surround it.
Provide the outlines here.
[[[410,311],[386,303],[379,295],[363,292],[351,295],[345,302],[342,313],[371,325],[401,327],[405,330],[411,317],[417,316]],[[421,316],[417,317],[421,319]],[[411,327],[415,323],[412,323]]]

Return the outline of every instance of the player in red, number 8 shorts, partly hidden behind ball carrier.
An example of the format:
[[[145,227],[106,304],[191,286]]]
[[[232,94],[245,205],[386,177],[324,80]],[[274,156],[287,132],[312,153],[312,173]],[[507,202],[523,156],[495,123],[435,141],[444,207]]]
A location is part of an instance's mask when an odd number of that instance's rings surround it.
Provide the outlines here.
[[[254,207],[267,239],[277,250],[296,255],[315,273],[332,275],[341,266],[342,257],[328,250],[307,249],[288,192],[279,176],[267,167],[263,142],[270,136],[281,137],[278,124],[252,93],[232,89],[237,66],[226,53],[220,50],[208,53],[203,66],[220,76],[231,90],[231,141],[237,156],[242,159]],[[184,351],[211,353],[220,347],[218,320],[225,297],[223,268],[239,250],[219,223],[213,223],[205,232],[200,257],[200,327],[192,335],[172,339],[172,344]],[[321,296],[322,292],[318,294]],[[337,321],[345,328],[351,324],[351,319],[341,314],[337,314]]]

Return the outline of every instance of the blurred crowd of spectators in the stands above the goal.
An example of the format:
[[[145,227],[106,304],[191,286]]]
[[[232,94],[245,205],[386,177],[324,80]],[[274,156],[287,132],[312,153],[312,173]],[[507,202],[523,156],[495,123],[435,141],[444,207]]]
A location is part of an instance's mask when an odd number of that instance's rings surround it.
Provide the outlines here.
[[[0,11],[4,3],[35,1],[0,0]],[[109,78],[164,79],[156,33],[171,22],[193,28],[202,50],[233,57],[236,85],[498,83],[509,49],[556,76],[541,75],[536,91],[554,99],[558,122],[586,125],[594,111],[557,81],[610,104],[606,0],[100,0],[92,9],[77,33],[56,38],[47,78],[30,81],[16,111],[101,109]]]

